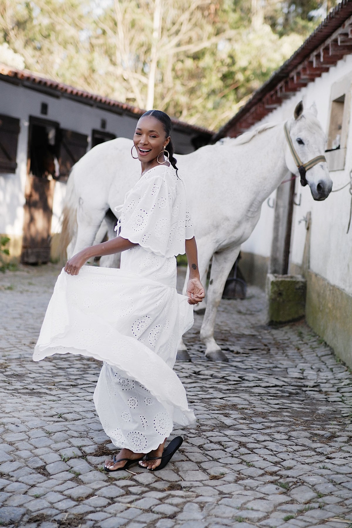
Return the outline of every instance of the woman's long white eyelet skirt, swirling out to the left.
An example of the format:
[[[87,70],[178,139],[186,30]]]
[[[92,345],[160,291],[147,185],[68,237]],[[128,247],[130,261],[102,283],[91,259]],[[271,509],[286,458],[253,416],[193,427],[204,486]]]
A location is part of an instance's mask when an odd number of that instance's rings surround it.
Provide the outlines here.
[[[177,294],[174,257],[141,247],[122,256],[121,269],[62,270],[33,359],[71,353],[103,361],[94,403],[104,430],[117,447],[149,452],[173,423],[195,421],[172,370],[193,308]]]

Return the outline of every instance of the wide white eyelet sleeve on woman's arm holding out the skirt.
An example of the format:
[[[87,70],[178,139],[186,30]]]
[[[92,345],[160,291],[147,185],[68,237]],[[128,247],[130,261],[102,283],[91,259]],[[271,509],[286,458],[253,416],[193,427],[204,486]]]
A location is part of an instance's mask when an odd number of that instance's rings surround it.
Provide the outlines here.
[[[161,170],[138,182],[123,204],[120,236],[165,257],[174,197],[175,189]]]

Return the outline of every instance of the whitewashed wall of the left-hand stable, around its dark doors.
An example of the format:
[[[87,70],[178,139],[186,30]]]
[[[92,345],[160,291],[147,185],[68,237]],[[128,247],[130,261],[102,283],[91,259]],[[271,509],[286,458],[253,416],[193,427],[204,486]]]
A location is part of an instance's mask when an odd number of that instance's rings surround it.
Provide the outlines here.
[[[92,129],[100,130],[100,121],[107,122],[106,131],[116,136],[132,137],[138,117],[112,114],[100,108],[88,107],[67,98],[50,97],[44,93],[15,86],[0,81],[0,114],[20,119],[20,135],[17,146],[17,169],[15,174],[0,174],[0,233],[22,235],[23,205],[27,173],[27,146],[29,117],[35,116],[58,121],[61,128],[89,136]],[[40,114],[41,103],[48,105],[46,116]],[[54,217],[52,232],[60,231],[60,223],[55,218],[62,203],[65,187],[55,185]],[[61,214],[61,213],[60,213]]]

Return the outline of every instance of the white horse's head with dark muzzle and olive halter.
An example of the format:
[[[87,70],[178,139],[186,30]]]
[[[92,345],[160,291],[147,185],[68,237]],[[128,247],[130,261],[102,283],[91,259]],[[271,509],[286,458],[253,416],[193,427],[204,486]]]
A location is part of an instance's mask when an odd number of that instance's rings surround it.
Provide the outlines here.
[[[332,181],[328,165],[322,159],[326,136],[316,116],[315,105],[303,111],[302,101],[298,103],[293,117],[287,121],[289,138],[285,150],[285,161],[288,169],[294,175],[301,177],[302,185],[308,183],[314,200],[325,200],[330,194]],[[311,164],[309,164],[310,161]]]

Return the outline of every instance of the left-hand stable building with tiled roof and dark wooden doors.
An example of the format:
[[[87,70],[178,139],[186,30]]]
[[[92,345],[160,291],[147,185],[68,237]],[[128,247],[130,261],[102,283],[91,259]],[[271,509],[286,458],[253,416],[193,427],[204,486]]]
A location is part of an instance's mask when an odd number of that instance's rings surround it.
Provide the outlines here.
[[[66,180],[94,146],[131,138],[144,110],[29,71],[0,64],[0,234],[10,258],[43,263],[58,256]],[[207,144],[212,133],[177,119],[177,154]]]

